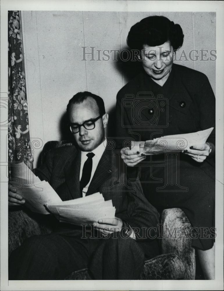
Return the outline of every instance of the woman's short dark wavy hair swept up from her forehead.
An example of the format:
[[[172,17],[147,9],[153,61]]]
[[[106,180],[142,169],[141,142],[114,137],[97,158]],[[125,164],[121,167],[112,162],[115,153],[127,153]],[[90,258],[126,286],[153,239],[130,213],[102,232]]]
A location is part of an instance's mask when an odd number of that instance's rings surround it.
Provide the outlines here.
[[[149,16],[134,24],[127,37],[130,49],[141,51],[143,45],[155,47],[170,42],[173,49],[180,48],[184,35],[179,24],[174,24],[164,16]]]

